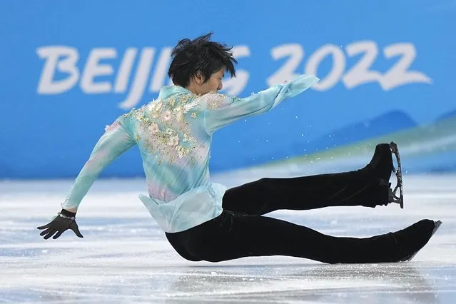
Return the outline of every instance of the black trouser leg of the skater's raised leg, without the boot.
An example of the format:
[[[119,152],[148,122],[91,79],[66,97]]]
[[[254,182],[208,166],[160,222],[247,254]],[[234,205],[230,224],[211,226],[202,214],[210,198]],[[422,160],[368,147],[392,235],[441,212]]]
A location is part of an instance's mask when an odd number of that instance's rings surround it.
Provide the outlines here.
[[[226,191],[223,208],[250,215],[263,215],[280,209],[309,210],[329,206],[385,205],[389,186],[371,181],[332,183],[337,173],[300,178],[262,178]]]

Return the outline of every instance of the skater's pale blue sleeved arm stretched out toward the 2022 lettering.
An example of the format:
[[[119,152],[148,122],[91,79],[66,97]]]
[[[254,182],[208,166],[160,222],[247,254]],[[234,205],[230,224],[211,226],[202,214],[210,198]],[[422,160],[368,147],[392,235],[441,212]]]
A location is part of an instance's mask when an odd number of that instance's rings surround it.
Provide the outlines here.
[[[271,86],[246,98],[233,98],[219,93],[203,95],[201,98],[207,106],[206,128],[213,133],[241,118],[270,111],[281,101],[302,93],[318,80],[313,75],[302,75],[293,81]]]

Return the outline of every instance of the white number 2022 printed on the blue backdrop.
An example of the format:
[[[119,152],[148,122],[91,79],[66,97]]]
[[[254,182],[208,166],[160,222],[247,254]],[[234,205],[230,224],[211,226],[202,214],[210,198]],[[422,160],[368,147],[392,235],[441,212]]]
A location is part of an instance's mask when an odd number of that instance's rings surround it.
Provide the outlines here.
[[[335,86],[340,78],[346,88],[355,88],[365,83],[377,81],[383,90],[388,91],[397,86],[407,83],[432,83],[432,79],[420,71],[410,71],[410,65],[415,60],[416,49],[410,43],[398,43],[386,46],[383,54],[387,59],[395,56],[400,58],[388,69],[385,74],[370,69],[378,56],[378,47],[374,41],[357,41],[345,46],[348,56],[352,57],[363,54],[360,60],[348,71],[345,72],[345,54],[340,47],[334,44],[325,44],[315,51],[305,65],[305,74],[317,75],[318,66],[326,56],[333,56],[333,66],[326,76],[315,83],[313,89],[325,91]],[[272,76],[267,79],[268,85],[293,79],[298,65],[304,56],[303,47],[300,44],[283,44],[271,49],[274,60],[289,57],[289,59]],[[345,72],[345,74],[344,74]],[[318,76],[318,75],[317,75]]]

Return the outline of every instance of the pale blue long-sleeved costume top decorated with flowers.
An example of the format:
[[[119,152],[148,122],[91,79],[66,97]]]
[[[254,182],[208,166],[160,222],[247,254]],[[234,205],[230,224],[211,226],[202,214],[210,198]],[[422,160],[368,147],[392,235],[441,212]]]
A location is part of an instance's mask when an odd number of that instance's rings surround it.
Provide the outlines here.
[[[210,221],[222,213],[227,190],[209,181],[213,133],[269,111],[317,81],[302,75],[246,98],[195,95],[181,86],[164,86],[156,100],[106,126],[62,207],[77,208],[103,168],[138,145],[148,185],[148,196],[139,198],[161,228],[174,233]]]

